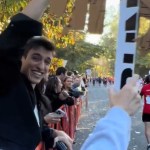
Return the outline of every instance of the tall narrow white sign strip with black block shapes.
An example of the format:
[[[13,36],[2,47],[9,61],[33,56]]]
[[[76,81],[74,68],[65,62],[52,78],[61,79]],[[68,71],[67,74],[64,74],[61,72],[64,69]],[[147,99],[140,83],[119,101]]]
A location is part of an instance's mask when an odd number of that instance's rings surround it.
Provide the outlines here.
[[[115,63],[115,88],[121,89],[134,73],[139,20],[139,0],[120,0],[120,20]]]

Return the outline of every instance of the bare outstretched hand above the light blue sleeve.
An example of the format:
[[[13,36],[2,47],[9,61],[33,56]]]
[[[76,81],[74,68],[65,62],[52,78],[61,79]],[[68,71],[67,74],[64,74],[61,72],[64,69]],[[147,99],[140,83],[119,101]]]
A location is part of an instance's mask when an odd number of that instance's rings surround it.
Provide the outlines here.
[[[140,107],[141,97],[138,92],[137,80],[139,76],[134,75],[127,79],[127,83],[124,87],[116,92],[113,88],[109,90],[109,100],[111,107],[121,107],[129,115],[134,115]]]

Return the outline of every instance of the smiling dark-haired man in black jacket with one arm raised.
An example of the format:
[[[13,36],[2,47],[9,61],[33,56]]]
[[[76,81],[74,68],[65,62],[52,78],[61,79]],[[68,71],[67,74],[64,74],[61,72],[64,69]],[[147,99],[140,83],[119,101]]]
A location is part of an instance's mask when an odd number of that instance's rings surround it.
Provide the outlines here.
[[[0,35],[0,149],[35,150],[42,138],[53,144],[60,136],[43,127],[41,96],[35,89],[48,72],[55,48],[41,37],[42,24],[36,21],[47,4],[32,0]],[[71,149],[71,140],[62,140]]]

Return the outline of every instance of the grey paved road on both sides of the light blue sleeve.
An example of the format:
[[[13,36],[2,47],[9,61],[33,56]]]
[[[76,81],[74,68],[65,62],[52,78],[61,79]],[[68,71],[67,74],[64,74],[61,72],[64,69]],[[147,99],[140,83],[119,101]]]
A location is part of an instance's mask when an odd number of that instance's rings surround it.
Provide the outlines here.
[[[96,122],[102,118],[109,108],[108,87],[92,85],[88,88],[88,110],[83,107],[80,122],[76,132],[76,144],[74,150],[80,150],[82,143],[92,132]],[[131,141],[128,150],[146,150],[146,139],[144,136],[144,127],[141,121],[141,108],[137,114],[132,117]]]

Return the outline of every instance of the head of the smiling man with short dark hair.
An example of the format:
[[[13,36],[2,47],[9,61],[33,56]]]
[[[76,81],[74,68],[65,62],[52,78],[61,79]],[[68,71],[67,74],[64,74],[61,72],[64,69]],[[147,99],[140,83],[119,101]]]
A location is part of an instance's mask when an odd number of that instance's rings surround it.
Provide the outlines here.
[[[33,37],[24,49],[21,72],[27,76],[34,88],[48,73],[55,47],[44,37]]]

